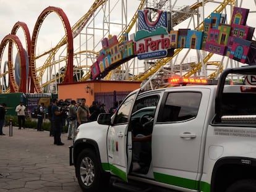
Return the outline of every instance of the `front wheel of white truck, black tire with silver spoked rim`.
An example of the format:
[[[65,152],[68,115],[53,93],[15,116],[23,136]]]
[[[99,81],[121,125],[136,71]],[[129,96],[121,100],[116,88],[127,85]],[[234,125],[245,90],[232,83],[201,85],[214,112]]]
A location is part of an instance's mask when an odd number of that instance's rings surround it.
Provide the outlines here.
[[[108,186],[109,177],[101,170],[99,159],[92,149],[84,149],[80,152],[75,172],[83,191],[102,191],[103,188],[106,189]]]

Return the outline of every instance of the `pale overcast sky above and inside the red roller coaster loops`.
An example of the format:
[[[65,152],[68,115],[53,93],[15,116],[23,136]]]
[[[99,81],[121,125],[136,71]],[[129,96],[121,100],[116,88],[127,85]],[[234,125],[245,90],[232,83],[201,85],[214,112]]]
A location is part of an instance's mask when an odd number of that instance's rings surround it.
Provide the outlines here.
[[[112,0],[117,1],[117,0]],[[174,4],[174,0],[170,0],[172,4]],[[186,5],[192,5],[197,0],[185,0],[185,1],[177,1],[177,6],[186,6]],[[219,0],[220,1],[220,0]],[[66,13],[71,27],[77,22],[83,15],[86,14],[87,10],[92,6],[94,1],[92,0],[0,0],[0,39],[4,38],[7,34],[11,33],[11,29],[14,26],[14,24],[18,21],[27,23],[27,26],[30,30],[30,34],[33,32],[34,25],[36,23],[36,20],[38,19],[38,16],[41,14],[41,12],[46,9],[48,6],[55,6],[60,7],[64,12]],[[135,10],[137,9],[137,6],[139,5],[139,0],[130,0],[129,2],[132,2],[129,4],[129,12],[130,15],[133,15]],[[242,6],[251,9],[256,10],[255,2],[253,0],[246,0],[246,1],[239,1],[239,3],[242,2]],[[211,6],[205,6],[207,9],[214,10],[218,4],[211,4]],[[205,17],[210,14],[210,10],[205,11]],[[119,17],[117,15],[117,17]],[[250,16],[252,17],[252,16]],[[252,20],[249,17],[249,20]],[[255,14],[253,15],[255,17]],[[54,22],[53,20],[56,20],[57,22]],[[255,22],[252,22],[249,25],[254,25]],[[40,37],[42,39],[45,38],[45,40],[49,40],[49,36],[43,36],[43,33],[51,31],[51,34],[56,33],[56,35],[59,35],[60,30],[59,27],[62,27],[61,22],[59,22],[58,16],[55,14],[49,14],[48,17],[45,19],[41,29],[40,29]],[[57,30],[56,30],[57,28]],[[44,31],[45,30],[45,31]],[[61,33],[64,30],[61,30]],[[19,31],[18,31],[19,32]],[[19,33],[17,33],[19,35]],[[61,35],[58,36],[60,38]],[[20,36],[19,36],[20,37]],[[20,37],[22,39],[22,37]],[[53,38],[51,41],[54,41],[54,39],[58,39],[57,37]]]

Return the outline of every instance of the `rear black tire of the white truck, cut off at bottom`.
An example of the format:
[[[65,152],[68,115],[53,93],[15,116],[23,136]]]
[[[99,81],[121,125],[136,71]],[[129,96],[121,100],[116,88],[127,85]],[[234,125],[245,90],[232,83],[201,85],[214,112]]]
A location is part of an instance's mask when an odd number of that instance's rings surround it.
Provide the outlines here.
[[[256,180],[255,179],[247,179],[247,180],[239,180],[236,183],[233,183],[229,186],[226,192],[255,192],[256,191]]]

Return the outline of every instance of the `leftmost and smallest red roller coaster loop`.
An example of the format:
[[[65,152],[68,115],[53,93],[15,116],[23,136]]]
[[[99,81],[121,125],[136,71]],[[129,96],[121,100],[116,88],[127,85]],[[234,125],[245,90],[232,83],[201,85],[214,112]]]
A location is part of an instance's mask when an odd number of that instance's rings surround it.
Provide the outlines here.
[[[19,84],[19,88],[17,88],[17,84],[14,81],[14,76],[13,76],[13,70],[12,67],[10,68],[10,66],[12,66],[11,61],[8,61],[8,70],[9,70],[9,76],[12,73],[12,77],[10,76],[10,87],[11,90],[13,90],[14,92],[23,92],[26,93],[26,59],[25,59],[25,51],[23,49],[22,43],[20,42],[19,38],[16,35],[6,35],[0,44],[0,53],[1,53],[1,57],[0,57],[0,61],[2,61],[2,54],[4,52],[4,48],[6,47],[7,43],[12,44],[14,43],[15,46],[17,47],[17,50],[19,52],[19,59],[20,59],[20,72],[21,72],[21,79],[22,81],[20,81]],[[8,58],[10,58],[12,55],[12,51],[8,51]],[[0,90],[1,93],[1,90]]]

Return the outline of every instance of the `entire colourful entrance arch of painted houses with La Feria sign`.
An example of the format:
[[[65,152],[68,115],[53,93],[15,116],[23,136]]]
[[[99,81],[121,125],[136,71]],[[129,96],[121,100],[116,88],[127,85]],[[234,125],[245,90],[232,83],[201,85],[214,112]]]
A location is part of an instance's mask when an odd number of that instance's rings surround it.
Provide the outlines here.
[[[249,65],[256,64],[256,41],[252,41],[254,27],[246,25],[249,9],[234,7],[231,25],[226,24],[226,14],[211,13],[204,20],[203,31],[171,30],[171,14],[158,10],[156,20],[151,10],[138,11],[138,31],[124,33],[119,43],[116,35],[101,41],[102,49],[91,66],[91,79],[100,80],[108,72],[134,57],[158,59],[171,57],[175,48],[203,49],[228,56]]]

